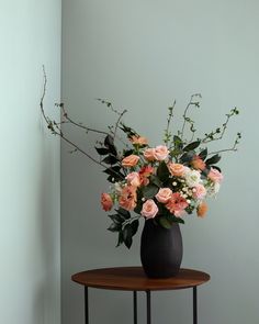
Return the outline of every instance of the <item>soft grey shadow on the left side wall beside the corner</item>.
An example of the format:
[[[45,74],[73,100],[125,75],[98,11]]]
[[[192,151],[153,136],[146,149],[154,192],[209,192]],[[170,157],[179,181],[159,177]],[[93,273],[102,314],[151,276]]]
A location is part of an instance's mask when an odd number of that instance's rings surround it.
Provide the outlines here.
[[[41,268],[33,306],[33,323],[60,323],[60,198],[58,144],[42,133],[42,158],[38,164],[40,211],[37,234]],[[55,146],[55,147],[54,147]]]

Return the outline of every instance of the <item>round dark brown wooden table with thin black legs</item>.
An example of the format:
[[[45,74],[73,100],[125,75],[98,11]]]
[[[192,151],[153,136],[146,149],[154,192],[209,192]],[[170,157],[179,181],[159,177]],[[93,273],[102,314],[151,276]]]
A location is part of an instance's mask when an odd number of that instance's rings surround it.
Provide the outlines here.
[[[210,275],[192,269],[181,269],[177,277],[147,278],[142,267],[120,267],[88,270],[76,273],[72,281],[85,287],[85,323],[89,324],[88,288],[133,291],[134,324],[137,324],[137,291],[146,292],[147,324],[151,323],[151,291],[193,290],[193,324],[198,324],[196,287],[209,281]]]

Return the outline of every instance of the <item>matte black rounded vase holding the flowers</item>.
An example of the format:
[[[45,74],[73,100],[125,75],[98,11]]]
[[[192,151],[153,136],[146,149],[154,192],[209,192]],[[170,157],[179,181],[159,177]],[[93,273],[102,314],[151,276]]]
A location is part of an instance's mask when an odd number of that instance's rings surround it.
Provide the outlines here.
[[[140,241],[140,259],[149,278],[177,276],[182,261],[182,236],[178,223],[167,230],[154,220],[145,221]]]

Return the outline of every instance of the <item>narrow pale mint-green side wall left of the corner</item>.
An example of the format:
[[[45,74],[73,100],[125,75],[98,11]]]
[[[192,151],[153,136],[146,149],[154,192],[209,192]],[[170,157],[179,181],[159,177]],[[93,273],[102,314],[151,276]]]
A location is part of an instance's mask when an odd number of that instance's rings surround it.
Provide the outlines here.
[[[40,113],[60,98],[59,0],[0,1],[0,323],[60,323],[59,141]],[[58,113],[54,112],[56,118]]]

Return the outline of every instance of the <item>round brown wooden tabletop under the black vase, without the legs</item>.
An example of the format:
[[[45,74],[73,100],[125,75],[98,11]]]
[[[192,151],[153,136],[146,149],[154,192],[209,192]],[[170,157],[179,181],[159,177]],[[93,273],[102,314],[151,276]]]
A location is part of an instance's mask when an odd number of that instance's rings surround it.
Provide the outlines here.
[[[88,270],[76,273],[72,281],[86,287],[109,290],[174,290],[196,287],[210,280],[210,275],[192,270],[180,269],[176,277],[167,279],[147,278],[142,267],[119,267]]]

